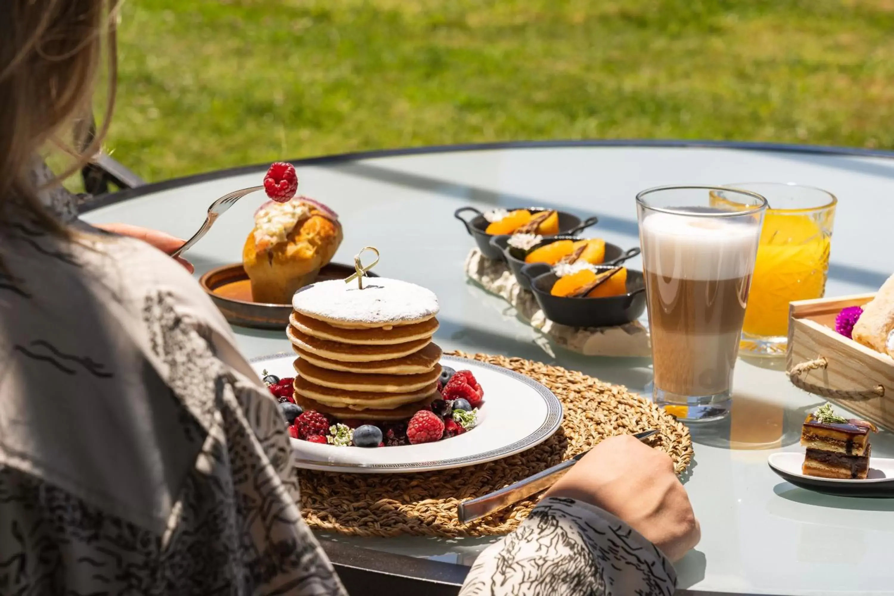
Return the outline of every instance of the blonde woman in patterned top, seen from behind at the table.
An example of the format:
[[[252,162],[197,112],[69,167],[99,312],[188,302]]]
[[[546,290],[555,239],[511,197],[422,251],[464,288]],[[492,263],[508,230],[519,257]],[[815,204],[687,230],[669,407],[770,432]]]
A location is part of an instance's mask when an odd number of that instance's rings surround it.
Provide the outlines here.
[[[72,222],[59,180],[107,129],[116,4],[0,11],[0,592],[342,594],[279,408],[223,317],[164,253]],[[89,110],[104,46],[106,123],[54,177],[41,152]],[[697,538],[670,459],[617,437],[463,593],[668,594],[669,558]]]

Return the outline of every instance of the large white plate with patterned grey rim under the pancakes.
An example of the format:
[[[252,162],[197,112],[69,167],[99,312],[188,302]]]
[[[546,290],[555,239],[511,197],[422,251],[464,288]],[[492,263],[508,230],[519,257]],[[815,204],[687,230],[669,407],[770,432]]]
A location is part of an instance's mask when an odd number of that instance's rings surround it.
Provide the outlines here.
[[[295,375],[294,354],[255,358],[251,365],[278,377]],[[485,391],[478,424],[457,437],[401,447],[335,447],[292,439],[298,466],[308,470],[397,474],[482,464],[507,457],[546,441],[558,430],[561,402],[524,374],[476,360],[445,356],[441,364],[469,370]],[[362,416],[358,413],[358,418]]]

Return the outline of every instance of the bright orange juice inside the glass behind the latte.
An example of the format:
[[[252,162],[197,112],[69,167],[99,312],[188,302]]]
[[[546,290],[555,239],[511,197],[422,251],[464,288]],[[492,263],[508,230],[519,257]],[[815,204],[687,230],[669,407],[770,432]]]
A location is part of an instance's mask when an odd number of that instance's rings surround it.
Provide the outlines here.
[[[822,298],[830,235],[810,214],[766,211],[742,332],[785,336],[789,302]]]

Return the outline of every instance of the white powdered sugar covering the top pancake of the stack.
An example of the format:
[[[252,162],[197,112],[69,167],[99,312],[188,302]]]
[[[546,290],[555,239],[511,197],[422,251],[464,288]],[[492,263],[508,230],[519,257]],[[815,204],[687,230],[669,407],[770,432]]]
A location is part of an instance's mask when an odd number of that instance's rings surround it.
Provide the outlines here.
[[[291,306],[302,315],[324,321],[387,325],[425,321],[438,314],[431,290],[407,281],[368,277],[357,281],[319,281],[295,292]]]

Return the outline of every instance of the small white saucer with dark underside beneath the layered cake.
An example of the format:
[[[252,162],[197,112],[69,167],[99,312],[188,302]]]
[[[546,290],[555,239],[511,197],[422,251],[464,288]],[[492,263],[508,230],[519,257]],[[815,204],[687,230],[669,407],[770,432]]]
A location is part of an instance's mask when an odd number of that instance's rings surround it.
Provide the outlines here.
[[[865,480],[841,478],[817,478],[801,473],[804,453],[788,451],[773,453],[767,458],[773,472],[789,483],[808,491],[827,492],[849,497],[894,498],[894,459],[870,457],[869,474]]]

